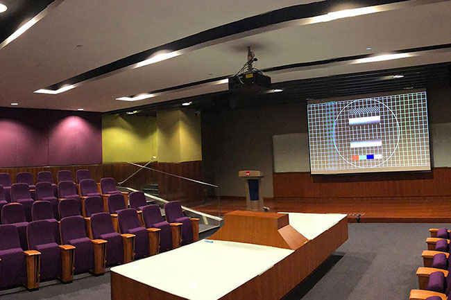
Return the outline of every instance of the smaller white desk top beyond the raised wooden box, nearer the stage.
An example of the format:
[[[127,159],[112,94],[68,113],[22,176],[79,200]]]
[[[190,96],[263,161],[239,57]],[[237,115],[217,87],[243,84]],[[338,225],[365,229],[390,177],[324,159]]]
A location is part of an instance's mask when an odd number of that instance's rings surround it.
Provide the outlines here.
[[[291,227],[309,240],[313,240],[346,217],[347,215],[341,213],[288,213]]]

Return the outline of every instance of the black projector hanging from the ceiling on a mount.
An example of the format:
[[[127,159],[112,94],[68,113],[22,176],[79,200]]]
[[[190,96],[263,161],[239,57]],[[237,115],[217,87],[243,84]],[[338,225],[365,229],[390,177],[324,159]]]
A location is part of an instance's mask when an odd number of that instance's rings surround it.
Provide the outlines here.
[[[237,91],[240,93],[261,93],[271,88],[271,78],[263,75],[262,71],[253,67],[256,62],[255,54],[250,51],[248,46],[248,60],[246,64],[234,76],[229,79],[229,91]],[[244,69],[247,68],[245,72]]]

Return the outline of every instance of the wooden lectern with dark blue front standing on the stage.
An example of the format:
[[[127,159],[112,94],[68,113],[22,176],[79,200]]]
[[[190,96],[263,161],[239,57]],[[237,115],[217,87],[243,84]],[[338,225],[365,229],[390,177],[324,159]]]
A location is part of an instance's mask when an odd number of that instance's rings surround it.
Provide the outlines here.
[[[263,174],[260,171],[239,171],[238,176],[246,180],[246,207],[248,211],[264,211],[263,197],[260,193]]]

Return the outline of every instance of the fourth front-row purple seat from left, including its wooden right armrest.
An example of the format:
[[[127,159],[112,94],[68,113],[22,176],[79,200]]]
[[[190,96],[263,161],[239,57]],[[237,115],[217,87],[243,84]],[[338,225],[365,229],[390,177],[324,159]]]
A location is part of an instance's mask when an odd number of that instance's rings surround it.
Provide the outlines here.
[[[135,235],[119,234],[114,231],[108,213],[94,213],[91,216],[91,231],[94,239],[99,238],[108,242],[106,245],[106,264],[108,266],[133,261]]]

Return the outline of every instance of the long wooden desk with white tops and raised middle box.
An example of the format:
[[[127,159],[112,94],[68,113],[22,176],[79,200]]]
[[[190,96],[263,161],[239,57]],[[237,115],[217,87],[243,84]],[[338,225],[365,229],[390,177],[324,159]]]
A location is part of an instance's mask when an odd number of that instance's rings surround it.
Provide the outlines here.
[[[207,240],[111,269],[111,299],[281,299],[348,239],[346,215],[233,211]]]

